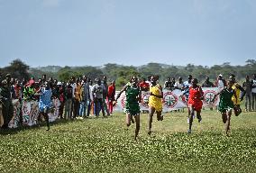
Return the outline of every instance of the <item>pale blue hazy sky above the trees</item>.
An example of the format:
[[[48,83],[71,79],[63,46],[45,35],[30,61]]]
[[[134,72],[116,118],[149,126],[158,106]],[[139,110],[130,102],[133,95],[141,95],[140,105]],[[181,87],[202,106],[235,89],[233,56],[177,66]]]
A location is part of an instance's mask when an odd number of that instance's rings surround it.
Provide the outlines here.
[[[0,67],[256,59],[255,0],[0,0]]]

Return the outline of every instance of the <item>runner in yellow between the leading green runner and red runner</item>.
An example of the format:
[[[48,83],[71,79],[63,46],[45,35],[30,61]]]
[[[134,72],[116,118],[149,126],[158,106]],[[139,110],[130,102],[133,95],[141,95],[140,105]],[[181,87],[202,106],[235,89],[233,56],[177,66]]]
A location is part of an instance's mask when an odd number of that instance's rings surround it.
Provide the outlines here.
[[[151,126],[152,126],[152,117],[153,114],[156,112],[157,120],[162,121],[163,116],[161,115],[162,112],[162,88],[159,84],[157,84],[159,77],[152,76],[151,77],[151,88],[150,88],[150,98],[149,98],[149,129],[148,134],[151,135]]]

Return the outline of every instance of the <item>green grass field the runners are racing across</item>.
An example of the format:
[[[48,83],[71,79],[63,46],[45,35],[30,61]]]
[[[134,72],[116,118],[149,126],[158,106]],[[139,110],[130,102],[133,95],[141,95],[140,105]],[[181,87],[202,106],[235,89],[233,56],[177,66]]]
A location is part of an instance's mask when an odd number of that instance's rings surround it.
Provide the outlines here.
[[[256,172],[256,112],[232,116],[231,137],[216,111],[204,110],[187,134],[187,112],[153,117],[147,134],[142,114],[138,141],[124,114],[59,120],[1,132],[0,172]]]

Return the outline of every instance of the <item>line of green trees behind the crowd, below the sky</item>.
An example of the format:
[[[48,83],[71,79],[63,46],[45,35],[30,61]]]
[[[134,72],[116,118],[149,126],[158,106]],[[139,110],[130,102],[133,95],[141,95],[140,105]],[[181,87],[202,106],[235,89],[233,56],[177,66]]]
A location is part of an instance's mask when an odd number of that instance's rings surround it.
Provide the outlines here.
[[[245,61],[244,66],[231,66],[229,62],[225,62],[222,65],[215,65],[213,67],[197,66],[193,64],[187,64],[187,66],[173,66],[160,63],[148,63],[140,67],[135,66],[123,66],[118,64],[105,64],[103,67],[81,66],[81,67],[69,67],[64,68],[59,66],[48,66],[43,68],[30,68],[23,63],[21,59],[15,59],[5,68],[0,68],[0,76],[10,73],[13,77],[28,79],[30,77],[40,78],[43,74],[48,77],[56,78],[60,81],[67,81],[70,77],[82,77],[86,75],[90,78],[95,77],[108,77],[108,80],[115,80],[116,87],[122,87],[129,79],[129,77],[136,75],[138,77],[149,77],[151,75],[159,75],[160,82],[164,82],[167,77],[183,77],[183,80],[187,80],[187,75],[191,74],[193,77],[197,77],[201,83],[206,77],[210,77],[210,80],[215,81],[215,78],[222,74],[224,77],[228,77],[230,73],[233,73],[238,80],[244,80],[246,75],[250,77],[256,73],[256,60],[248,59]]]

